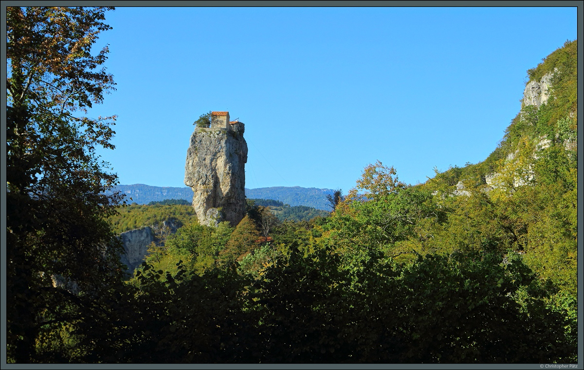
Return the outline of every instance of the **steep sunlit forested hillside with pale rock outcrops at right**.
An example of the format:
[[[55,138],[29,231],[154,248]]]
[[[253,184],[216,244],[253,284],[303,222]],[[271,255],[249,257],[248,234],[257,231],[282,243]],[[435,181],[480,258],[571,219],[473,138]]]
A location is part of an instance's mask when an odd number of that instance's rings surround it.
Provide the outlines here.
[[[547,102],[524,101],[488,158],[437,173],[420,187],[436,191],[447,212],[444,224],[425,231],[432,235],[426,250],[513,250],[541,277],[575,294],[577,48],[577,41],[566,42],[527,71],[528,90],[551,74]],[[457,184],[468,196],[449,196]]]

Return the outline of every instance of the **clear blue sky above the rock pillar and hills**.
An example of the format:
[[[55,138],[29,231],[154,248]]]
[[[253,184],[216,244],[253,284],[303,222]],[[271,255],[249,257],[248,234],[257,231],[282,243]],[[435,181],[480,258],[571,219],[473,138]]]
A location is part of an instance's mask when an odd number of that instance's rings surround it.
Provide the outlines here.
[[[527,69],[577,37],[576,8],[116,8],[121,184],[184,187],[193,121],[245,124],[246,187],[354,187],[380,160],[415,184],[477,163],[520,109]]]

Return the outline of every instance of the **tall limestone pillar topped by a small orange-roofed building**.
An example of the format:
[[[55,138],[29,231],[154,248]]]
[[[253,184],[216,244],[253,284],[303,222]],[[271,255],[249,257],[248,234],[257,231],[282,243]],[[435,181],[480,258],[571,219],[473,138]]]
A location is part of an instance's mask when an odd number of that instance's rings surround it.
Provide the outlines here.
[[[201,225],[229,221],[237,226],[245,216],[244,124],[230,122],[228,112],[212,114],[210,127],[197,127],[190,137],[185,184],[193,189],[193,208]]]

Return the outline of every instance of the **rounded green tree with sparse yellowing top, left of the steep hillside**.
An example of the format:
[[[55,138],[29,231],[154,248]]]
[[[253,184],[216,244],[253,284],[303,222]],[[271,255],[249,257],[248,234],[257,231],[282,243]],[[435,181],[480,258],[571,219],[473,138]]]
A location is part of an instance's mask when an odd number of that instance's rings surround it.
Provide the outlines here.
[[[381,162],[364,169],[357,189],[336,206],[326,224],[328,238],[343,257],[369,259],[369,250],[393,257],[421,252],[430,237],[425,229],[443,219],[429,191],[406,186],[393,167]]]

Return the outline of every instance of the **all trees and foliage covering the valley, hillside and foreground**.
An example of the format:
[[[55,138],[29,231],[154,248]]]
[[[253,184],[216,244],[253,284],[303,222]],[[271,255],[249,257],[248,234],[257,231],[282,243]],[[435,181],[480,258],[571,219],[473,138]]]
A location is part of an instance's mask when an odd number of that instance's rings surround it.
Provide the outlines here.
[[[250,201],[211,228],[104,193],[116,176],[93,148],[113,148],[112,118],[72,112],[113,88],[86,70],[105,60],[89,46],[107,9],[7,9],[9,362],[578,361],[576,41],[529,71],[557,68],[549,104],[524,107],[485,162],[419,186],[377,162],[329,217]],[[161,210],[182,227],[125,279],[116,232]]]

